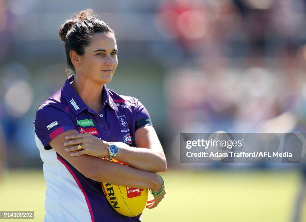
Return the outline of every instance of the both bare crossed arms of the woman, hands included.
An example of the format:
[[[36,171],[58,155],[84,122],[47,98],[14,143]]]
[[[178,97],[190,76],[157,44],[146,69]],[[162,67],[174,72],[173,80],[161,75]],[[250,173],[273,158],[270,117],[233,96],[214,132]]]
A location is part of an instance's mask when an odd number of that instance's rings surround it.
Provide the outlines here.
[[[146,126],[138,129],[135,142],[141,148],[131,148],[122,142],[115,143],[119,149],[116,159],[132,167],[98,158],[108,156],[108,142],[89,133],[79,134],[76,130],[69,130],[49,144],[87,178],[111,184],[150,188],[153,192],[158,192],[162,183],[160,177],[153,172],[165,171],[166,159],[154,128]],[[78,151],[78,144],[82,144],[84,150]],[[164,194],[165,192],[154,196],[155,202],[151,200],[149,208],[156,207]]]

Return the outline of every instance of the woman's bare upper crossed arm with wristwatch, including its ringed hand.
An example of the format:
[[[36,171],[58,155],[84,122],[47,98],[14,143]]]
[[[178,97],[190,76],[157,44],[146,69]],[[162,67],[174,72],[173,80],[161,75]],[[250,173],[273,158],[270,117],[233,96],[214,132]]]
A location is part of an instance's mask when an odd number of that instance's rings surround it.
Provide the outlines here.
[[[91,155],[95,157],[108,157],[109,142],[102,141],[89,133],[67,136],[64,145],[65,150],[72,152],[72,156]],[[167,168],[166,159],[162,146],[158,140],[153,127],[146,126],[135,132],[135,142],[137,147],[131,148],[123,142],[114,142],[119,152],[116,159],[134,168],[148,172],[164,172]],[[78,150],[78,144],[84,150]]]

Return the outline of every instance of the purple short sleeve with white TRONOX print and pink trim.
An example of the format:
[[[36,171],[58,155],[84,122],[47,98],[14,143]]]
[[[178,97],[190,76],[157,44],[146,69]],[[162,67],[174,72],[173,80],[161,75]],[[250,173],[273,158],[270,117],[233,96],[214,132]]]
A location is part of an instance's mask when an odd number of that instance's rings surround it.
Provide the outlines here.
[[[70,115],[56,107],[46,105],[38,108],[36,112],[35,133],[43,146],[48,147],[48,143],[68,130],[77,130]]]

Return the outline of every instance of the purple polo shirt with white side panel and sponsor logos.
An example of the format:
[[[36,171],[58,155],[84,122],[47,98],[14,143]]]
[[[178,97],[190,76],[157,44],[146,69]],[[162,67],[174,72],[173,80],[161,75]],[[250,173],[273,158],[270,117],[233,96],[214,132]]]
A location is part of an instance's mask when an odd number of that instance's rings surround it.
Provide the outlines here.
[[[135,131],[152,125],[149,113],[138,99],[118,95],[106,85],[102,108],[96,113],[71,86],[73,78],[71,75],[62,89],[38,108],[34,122],[47,185],[45,221],[140,221],[140,215],[126,217],[112,209],[103,194],[101,182],[86,178],[48,143],[61,133],[74,129],[105,141],[135,146]]]

